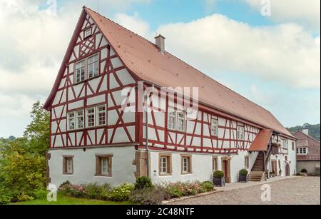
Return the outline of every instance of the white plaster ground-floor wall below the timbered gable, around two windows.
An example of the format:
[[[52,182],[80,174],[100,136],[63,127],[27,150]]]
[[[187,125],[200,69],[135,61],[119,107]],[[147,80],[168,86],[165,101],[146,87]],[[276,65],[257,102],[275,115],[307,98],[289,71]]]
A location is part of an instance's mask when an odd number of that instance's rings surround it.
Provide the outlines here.
[[[136,166],[134,147],[122,148],[87,148],[72,150],[52,150],[49,160],[51,182],[56,186],[69,180],[71,183],[134,183]],[[112,177],[96,177],[96,155],[113,155]],[[73,175],[63,175],[63,156],[74,156]]]

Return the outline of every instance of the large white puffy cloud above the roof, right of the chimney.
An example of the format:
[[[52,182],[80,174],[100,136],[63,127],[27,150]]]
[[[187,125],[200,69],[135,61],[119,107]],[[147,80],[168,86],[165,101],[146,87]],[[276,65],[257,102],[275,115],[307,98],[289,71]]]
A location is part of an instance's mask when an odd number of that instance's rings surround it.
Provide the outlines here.
[[[301,88],[320,87],[320,44],[297,24],[251,27],[214,14],[158,31],[172,51],[206,72],[238,72]]]

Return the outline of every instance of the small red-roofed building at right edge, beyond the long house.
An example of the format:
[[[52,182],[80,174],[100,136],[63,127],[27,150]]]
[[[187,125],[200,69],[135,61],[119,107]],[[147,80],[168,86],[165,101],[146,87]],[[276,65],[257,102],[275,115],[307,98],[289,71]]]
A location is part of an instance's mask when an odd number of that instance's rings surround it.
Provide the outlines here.
[[[297,131],[297,171],[307,170],[310,175],[320,175],[320,141],[309,136],[309,130]]]

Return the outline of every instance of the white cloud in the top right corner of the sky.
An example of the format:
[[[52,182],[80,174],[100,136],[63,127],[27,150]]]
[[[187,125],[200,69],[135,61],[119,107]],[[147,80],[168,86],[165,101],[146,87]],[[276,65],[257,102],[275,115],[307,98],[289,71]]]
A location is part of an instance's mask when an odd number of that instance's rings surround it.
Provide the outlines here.
[[[281,22],[298,21],[311,29],[320,31],[320,0],[243,0],[261,11],[263,4],[270,1],[271,19]]]

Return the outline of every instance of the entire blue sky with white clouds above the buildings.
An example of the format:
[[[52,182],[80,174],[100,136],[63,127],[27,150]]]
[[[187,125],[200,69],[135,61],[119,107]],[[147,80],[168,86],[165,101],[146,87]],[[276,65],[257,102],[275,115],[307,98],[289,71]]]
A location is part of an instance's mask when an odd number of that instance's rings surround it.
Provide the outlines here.
[[[44,103],[86,5],[271,111],[320,123],[320,0],[0,0],[0,137]]]

